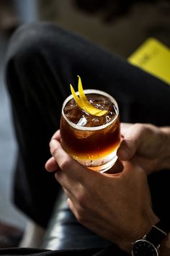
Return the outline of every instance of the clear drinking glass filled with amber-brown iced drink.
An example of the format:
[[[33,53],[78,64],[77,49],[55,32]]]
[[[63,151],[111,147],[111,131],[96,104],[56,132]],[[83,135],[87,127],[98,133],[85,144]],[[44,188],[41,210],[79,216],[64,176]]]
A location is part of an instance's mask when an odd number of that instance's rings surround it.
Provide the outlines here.
[[[61,145],[82,165],[104,172],[117,160],[120,145],[120,114],[117,101],[101,90],[84,90],[92,105],[107,110],[104,116],[93,116],[79,108],[68,96],[61,113]],[[79,92],[76,92],[79,95]]]

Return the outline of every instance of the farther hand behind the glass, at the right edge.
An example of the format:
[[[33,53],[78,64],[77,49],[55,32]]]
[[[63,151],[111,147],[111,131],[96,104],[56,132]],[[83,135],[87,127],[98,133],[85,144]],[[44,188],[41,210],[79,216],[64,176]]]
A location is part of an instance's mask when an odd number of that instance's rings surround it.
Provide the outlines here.
[[[152,124],[121,124],[120,161],[133,160],[147,174],[170,167],[170,135]]]

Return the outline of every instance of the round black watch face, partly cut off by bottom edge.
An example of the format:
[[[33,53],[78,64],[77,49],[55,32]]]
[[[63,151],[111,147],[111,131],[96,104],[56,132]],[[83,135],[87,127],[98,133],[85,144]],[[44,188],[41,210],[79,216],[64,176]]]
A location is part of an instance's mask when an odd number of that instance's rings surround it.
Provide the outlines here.
[[[150,242],[146,241],[145,239],[140,239],[133,243],[132,255],[133,256],[158,256],[158,250]]]

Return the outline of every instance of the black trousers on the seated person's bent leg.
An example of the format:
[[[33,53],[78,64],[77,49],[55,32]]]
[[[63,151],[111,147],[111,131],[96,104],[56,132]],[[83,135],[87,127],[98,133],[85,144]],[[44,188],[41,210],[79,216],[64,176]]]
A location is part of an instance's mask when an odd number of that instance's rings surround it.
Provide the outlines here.
[[[77,88],[113,95],[121,121],[170,124],[170,87],[128,61],[94,46],[79,35],[50,23],[24,25],[12,36],[6,56],[6,84],[12,103],[19,154],[14,176],[14,202],[46,227],[60,186],[45,171],[49,141],[59,128],[61,107]],[[164,195],[167,171],[149,177],[153,208],[168,218]]]

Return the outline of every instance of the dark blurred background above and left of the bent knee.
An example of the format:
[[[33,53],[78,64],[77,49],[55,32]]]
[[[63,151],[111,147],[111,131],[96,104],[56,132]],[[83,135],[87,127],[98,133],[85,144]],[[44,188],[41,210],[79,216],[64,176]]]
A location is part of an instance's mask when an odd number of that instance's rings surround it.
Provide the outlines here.
[[[14,247],[27,216],[12,204],[17,144],[5,88],[4,60],[19,25],[54,22],[128,58],[149,37],[170,48],[169,0],[0,0],[0,247]]]

